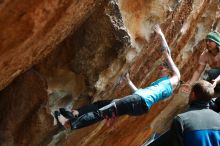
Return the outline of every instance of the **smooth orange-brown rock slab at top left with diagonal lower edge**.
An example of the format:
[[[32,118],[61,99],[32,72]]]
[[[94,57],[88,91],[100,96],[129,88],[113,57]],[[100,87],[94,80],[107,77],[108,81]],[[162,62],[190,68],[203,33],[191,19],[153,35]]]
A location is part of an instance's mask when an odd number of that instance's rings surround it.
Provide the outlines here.
[[[2,2],[0,67],[4,70],[0,73],[0,89],[45,58],[101,3],[101,0]]]

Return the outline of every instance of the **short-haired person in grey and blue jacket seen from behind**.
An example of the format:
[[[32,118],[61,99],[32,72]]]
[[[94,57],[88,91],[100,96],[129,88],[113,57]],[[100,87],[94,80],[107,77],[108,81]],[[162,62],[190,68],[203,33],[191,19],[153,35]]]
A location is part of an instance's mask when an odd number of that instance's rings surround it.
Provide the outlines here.
[[[220,115],[209,109],[214,86],[199,80],[192,85],[189,109],[178,114],[171,129],[148,146],[219,146]]]

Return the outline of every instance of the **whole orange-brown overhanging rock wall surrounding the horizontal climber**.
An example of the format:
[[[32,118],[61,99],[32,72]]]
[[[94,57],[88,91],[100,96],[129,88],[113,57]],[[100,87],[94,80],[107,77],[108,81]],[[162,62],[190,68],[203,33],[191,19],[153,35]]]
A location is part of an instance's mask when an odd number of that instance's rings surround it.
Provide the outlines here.
[[[220,31],[219,0],[4,0],[0,2],[0,145],[137,146],[170,126],[187,96],[175,92],[139,117],[63,131],[51,116],[131,94],[158,78],[159,23],[181,79],[191,78],[204,38]]]

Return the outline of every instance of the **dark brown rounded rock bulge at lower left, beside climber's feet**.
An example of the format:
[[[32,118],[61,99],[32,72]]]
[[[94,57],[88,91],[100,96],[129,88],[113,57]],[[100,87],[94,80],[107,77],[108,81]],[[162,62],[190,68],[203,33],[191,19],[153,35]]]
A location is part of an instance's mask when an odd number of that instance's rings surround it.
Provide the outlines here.
[[[46,80],[30,70],[1,91],[2,145],[37,145],[56,130],[46,89]]]

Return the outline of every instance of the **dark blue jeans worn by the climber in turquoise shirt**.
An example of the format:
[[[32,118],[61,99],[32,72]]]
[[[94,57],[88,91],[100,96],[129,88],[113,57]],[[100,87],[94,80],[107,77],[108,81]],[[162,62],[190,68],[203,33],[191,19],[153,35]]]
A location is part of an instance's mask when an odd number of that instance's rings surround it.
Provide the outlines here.
[[[92,125],[98,121],[104,119],[105,115],[102,113],[107,113],[111,115],[112,109],[115,109],[116,116],[131,115],[138,116],[146,113],[148,108],[142,97],[139,95],[129,95],[121,99],[115,100],[100,100],[90,104],[88,106],[78,109],[83,111],[77,119],[70,120],[72,129],[79,129],[89,125]]]

